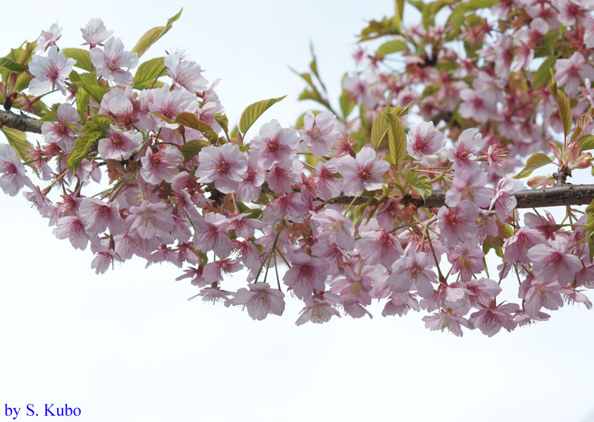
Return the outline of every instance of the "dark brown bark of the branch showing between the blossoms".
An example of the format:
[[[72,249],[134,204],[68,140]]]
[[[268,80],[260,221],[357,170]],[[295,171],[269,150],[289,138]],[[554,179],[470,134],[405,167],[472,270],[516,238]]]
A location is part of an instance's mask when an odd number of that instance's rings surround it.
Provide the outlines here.
[[[442,116],[439,117],[443,118]],[[6,126],[18,129],[23,132],[42,133],[42,124],[37,119],[25,115],[18,115],[10,111],[0,110],[0,127]],[[517,200],[517,208],[532,207],[555,207],[564,205],[588,205],[594,200],[594,185],[573,185],[559,184],[550,188],[526,189],[514,193]],[[343,196],[337,198],[336,203],[351,203],[352,196]],[[367,199],[358,198],[354,204],[366,203]],[[446,192],[435,190],[426,201],[419,199],[410,199],[410,202],[417,207],[438,208],[446,205]],[[371,204],[377,203],[376,200],[370,201]]]

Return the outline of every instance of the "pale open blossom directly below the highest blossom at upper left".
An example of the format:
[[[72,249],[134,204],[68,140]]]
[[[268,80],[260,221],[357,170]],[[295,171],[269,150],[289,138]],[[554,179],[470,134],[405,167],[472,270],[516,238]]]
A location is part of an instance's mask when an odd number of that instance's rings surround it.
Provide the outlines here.
[[[123,68],[133,69],[138,64],[137,53],[124,51],[119,38],[111,37],[103,49],[95,47],[89,51],[91,63],[97,68],[97,75],[119,85],[132,84],[132,73]]]

